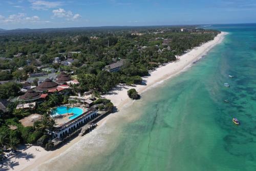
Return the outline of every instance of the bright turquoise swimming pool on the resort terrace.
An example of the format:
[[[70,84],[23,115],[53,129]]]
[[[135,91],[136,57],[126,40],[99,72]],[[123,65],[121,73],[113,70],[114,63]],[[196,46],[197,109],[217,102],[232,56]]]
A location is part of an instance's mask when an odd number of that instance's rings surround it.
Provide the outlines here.
[[[82,115],[83,110],[79,107],[70,107],[69,111],[67,106],[59,106],[56,108],[55,111],[52,111],[52,116],[56,115],[63,115],[65,113],[73,113],[71,117],[69,117],[70,120],[75,119],[76,117]]]

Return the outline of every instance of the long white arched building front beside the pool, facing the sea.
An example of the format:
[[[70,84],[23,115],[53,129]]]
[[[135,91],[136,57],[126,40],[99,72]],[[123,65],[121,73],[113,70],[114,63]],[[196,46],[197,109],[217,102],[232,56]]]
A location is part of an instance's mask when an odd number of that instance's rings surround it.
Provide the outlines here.
[[[86,124],[90,120],[92,120],[97,115],[96,109],[90,109],[84,112],[82,115],[78,116],[77,118],[56,127],[54,131],[52,131],[53,138],[61,138],[68,135],[70,132],[78,129],[82,125]]]

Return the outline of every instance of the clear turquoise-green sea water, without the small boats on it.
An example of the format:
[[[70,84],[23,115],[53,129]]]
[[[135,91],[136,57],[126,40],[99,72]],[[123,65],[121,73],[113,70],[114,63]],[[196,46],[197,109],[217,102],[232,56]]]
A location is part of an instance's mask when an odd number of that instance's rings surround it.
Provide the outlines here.
[[[203,59],[40,170],[256,170],[256,25],[212,28]]]

